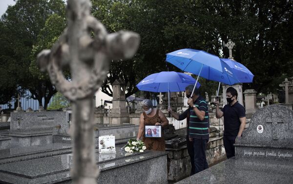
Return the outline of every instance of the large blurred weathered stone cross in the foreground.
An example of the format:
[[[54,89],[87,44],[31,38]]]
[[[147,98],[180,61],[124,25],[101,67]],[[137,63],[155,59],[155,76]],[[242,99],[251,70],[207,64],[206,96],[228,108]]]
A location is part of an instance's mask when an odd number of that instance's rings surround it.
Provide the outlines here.
[[[90,16],[90,0],[67,0],[67,25],[51,50],[38,55],[38,65],[52,84],[72,103],[69,134],[73,143],[73,184],[96,184],[99,171],[94,147],[94,93],[102,85],[109,61],[131,58],[140,38],[133,32],[108,34],[104,25]],[[91,36],[91,31],[94,36]],[[71,81],[63,75],[68,66]]]

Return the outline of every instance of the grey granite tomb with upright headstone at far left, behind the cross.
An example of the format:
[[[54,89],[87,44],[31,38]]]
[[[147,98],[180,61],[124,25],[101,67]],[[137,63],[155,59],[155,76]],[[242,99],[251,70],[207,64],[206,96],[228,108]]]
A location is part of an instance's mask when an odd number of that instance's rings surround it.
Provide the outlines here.
[[[66,112],[61,111],[13,112],[10,125],[10,131],[1,135],[11,138],[12,148],[53,143],[52,134],[66,134],[69,127]]]

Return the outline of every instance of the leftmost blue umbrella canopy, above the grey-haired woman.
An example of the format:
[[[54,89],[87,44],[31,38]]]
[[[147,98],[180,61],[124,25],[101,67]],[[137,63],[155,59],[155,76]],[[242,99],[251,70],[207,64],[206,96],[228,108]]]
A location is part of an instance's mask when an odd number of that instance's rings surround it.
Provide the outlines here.
[[[150,92],[179,92],[184,91],[185,87],[194,84],[195,79],[187,74],[180,72],[160,72],[147,76],[136,87],[141,91]],[[197,88],[200,83],[197,82]]]

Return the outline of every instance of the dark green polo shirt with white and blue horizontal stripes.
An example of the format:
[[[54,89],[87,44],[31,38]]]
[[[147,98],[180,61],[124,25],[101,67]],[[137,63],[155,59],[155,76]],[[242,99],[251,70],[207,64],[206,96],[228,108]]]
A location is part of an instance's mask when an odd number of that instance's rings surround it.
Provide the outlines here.
[[[209,110],[208,104],[204,98],[199,96],[195,102],[195,106],[200,111],[205,111],[205,118],[201,121],[195,114],[192,108],[190,108],[189,118],[189,136],[195,139],[209,139]]]

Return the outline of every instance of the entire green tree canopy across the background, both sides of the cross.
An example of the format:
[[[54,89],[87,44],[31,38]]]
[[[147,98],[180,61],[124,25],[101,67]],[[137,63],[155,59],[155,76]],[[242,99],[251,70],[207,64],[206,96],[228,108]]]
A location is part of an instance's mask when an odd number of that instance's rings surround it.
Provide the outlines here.
[[[182,48],[204,50],[228,58],[224,46],[236,43],[236,61],[255,75],[258,93],[275,92],[285,77],[293,76],[293,1],[290,0],[91,0],[91,13],[108,32],[131,30],[140,34],[135,57],[111,61],[102,91],[112,96],[110,84],[126,83],[126,97],[147,75],[180,71],[166,64],[166,53]],[[35,65],[36,55],[58,40],[66,24],[63,0],[16,0],[0,19],[0,103],[21,90],[45,104],[56,93],[47,74]],[[214,94],[217,82],[201,79],[204,93]]]

